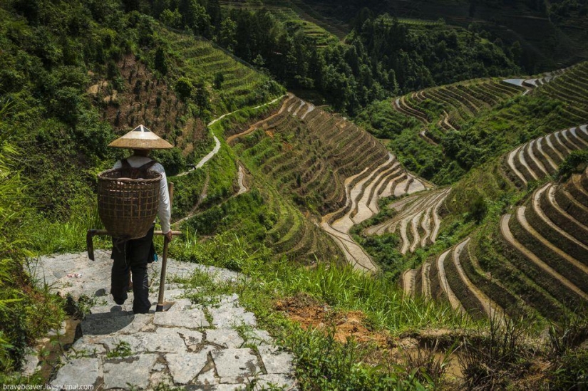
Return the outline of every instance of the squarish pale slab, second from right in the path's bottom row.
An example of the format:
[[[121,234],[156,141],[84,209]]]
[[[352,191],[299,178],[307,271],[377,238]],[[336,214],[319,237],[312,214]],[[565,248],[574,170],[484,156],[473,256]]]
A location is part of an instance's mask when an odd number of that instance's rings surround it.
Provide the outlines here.
[[[220,377],[247,377],[261,371],[251,349],[214,350],[210,354]]]

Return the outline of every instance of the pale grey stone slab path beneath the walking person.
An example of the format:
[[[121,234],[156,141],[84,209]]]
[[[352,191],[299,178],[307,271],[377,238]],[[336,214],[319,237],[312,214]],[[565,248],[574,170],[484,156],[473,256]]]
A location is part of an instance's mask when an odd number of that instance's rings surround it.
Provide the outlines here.
[[[239,305],[239,296],[211,298],[194,305],[185,298],[192,288],[166,283],[167,312],[155,313],[161,262],[149,266],[148,314],[133,314],[133,293],[118,306],[110,291],[110,251],[43,256],[28,266],[31,275],[55,292],[92,299],[73,343],[50,383],[53,386],[94,385],[95,390],[242,390],[276,386],[296,390],[292,354],[279,348],[255,315]],[[237,273],[212,266],[167,263],[167,279],[187,278],[202,271],[217,283],[235,281]],[[177,281],[177,279],[175,280]]]

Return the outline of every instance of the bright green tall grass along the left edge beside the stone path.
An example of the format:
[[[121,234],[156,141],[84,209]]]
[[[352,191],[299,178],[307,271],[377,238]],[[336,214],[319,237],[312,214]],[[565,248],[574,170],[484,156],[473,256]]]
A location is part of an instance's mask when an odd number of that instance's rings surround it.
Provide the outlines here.
[[[1,110],[0,110],[1,114]],[[4,125],[0,122],[1,125]],[[14,169],[17,151],[0,140],[0,373],[18,369],[26,345],[61,321],[48,291],[38,291],[23,271],[31,241],[24,231],[26,186]],[[4,379],[4,377],[2,377]]]

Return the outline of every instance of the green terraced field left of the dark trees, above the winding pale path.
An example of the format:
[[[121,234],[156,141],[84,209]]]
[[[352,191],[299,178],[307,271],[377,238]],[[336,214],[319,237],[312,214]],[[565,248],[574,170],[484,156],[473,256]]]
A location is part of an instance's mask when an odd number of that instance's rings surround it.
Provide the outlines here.
[[[233,110],[238,107],[264,103],[268,97],[259,95],[256,91],[269,78],[249,66],[237,61],[210,41],[203,38],[172,33],[167,30],[162,34],[173,34],[167,39],[172,42],[172,50],[182,67],[190,69],[190,73],[199,76],[209,85],[213,85],[215,75],[222,74],[224,81],[220,90],[213,90],[213,105],[222,106],[221,111]]]

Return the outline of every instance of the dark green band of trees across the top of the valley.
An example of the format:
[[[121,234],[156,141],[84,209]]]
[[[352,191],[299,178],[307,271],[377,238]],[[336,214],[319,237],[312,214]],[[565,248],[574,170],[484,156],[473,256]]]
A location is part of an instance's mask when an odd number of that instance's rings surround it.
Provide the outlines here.
[[[125,1],[174,28],[189,28],[271,73],[288,88],[317,90],[337,110],[356,114],[373,100],[458,80],[516,73],[517,48],[448,26],[411,30],[363,9],[346,43],[324,48],[270,11],[222,12],[217,0]]]

